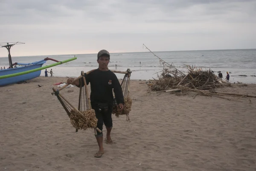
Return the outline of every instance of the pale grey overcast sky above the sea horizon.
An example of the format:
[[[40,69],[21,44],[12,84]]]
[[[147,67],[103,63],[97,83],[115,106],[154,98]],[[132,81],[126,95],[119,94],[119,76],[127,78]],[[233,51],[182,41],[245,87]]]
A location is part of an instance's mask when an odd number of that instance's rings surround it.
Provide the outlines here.
[[[256,48],[256,0],[0,0],[12,56]],[[7,50],[0,48],[0,57]]]

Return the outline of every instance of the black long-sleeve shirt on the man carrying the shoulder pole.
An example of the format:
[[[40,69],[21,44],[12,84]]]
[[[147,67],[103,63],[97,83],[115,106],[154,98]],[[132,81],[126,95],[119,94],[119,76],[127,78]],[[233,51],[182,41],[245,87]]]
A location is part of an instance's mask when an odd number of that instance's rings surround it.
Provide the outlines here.
[[[90,83],[91,102],[108,103],[110,105],[113,105],[113,89],[117,103],[125,103],[122,93],[122,87],[116,75],[111,72],[111,70],[101,71],[97,69],[90,74],[85,75],[85,79],[87,85]]]

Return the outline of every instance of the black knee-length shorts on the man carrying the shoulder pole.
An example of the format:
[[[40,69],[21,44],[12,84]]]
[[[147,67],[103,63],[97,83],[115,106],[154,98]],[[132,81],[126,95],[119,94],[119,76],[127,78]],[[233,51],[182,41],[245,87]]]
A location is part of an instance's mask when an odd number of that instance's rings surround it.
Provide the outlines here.
[[[92,108],[95,110],[96,118],[98,119],[97,127],[102,131],[103,124],[107,128],[111,128],[113,126],[112,122],[112,110],[113,105],[107,103],[95,103],[91,102]],[[102,135],[97,131],[97,135]]]

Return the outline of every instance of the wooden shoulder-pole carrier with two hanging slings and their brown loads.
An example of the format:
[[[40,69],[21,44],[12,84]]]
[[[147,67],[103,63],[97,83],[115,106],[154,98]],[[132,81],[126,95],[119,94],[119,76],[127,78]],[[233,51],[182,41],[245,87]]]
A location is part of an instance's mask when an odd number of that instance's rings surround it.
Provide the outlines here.
[[[94,71],[94,70],[88,71],[88,72],[86,72],[86,74],[89,74],[92,71]],[[124,97],[128,98],[129,90],[130,90],[130,75],[131,75],[130,69],[128,69],[126,72],[121,72],[121,71],[112,71],[112,72],[125,73],[125,77],[122,80],[121,87],[122,87],[122,92],[124,94]],[[90,96],[88,93],[88,88],[87,88],[87,84],[86,84],[86,80],[85,80],[83,71],[81,71],[81,75],[79,77],[75,78],[72,83],[74,83],[77,80],[79,80],[80,83],[82,81],[84,82],[83,87],[82,87],[82,84],[80,84],[78,109],[76,109],[76,107],[74,107],[60,93],[60,90],[67,87],[69,84],[64,85],[63,87],[59,88],[58,90],[55,88],[52,88],[52,90],[53,90],[52,95],[57,96],[57,99],[60,101],[62,107],[64,108],[64,110],[66,111],[67,115],[70,118],[70,123],[73,125],[74,128],[76,128],[76,132],[78,130],[82,130],[82,129],[87,130],[88,128],[93,128],[95,135],[97,135],[96,130],[98,130],[99,132],[102,132],[102,131],[96,127],[98,119],[96,118],[95,110],[92,109],[91,104],[90,104]],[[114,99],[114,101],[116,101],[116,99]],[[114,107],[117,108],[116,106],[117,106],[117,104],[114,102],[113,108]],[[129,108],[126,109],[125,107],[126,108],[129,107]],[[127,113],[127,111],[131,110],[131,102],[130,102],[130,104],[125,103],[125,107],[124,107],[124,110],[126,112],[125,113],[123,111],[119,112],[119,113],[116,112],[117,113],[116,116],[119,117],[119,115],[126,114],[126,116],[127,116],[126,120],[130,120],[130,118],[128,116],[129,113]],[[118,107],[118,109],[119,109],[119,107]],[[119,111],[118,109],[117,109],[117,111]]]

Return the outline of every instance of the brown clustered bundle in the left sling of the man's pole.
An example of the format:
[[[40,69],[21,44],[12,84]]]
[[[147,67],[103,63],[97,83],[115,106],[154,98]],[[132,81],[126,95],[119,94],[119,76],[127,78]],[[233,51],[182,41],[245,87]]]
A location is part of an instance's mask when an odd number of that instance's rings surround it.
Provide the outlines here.
[[[87,128],[95,128],[97,126],[98,119],[93,109],[81,111],[80,113],[82,113],[84,117],[75,110],[70,111],[70,122],[74,128],[87,130]]]

